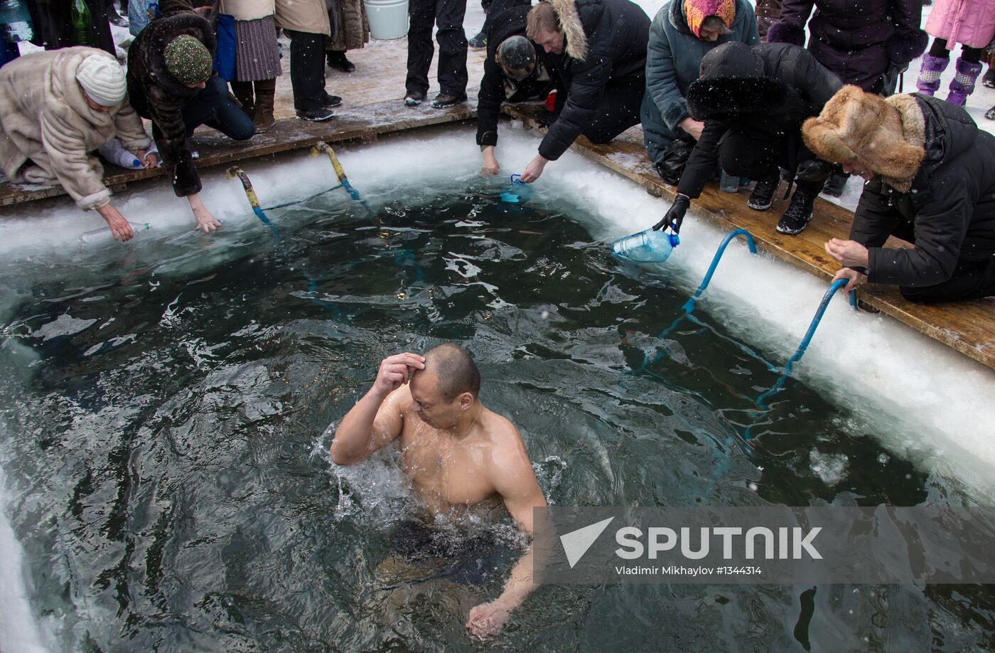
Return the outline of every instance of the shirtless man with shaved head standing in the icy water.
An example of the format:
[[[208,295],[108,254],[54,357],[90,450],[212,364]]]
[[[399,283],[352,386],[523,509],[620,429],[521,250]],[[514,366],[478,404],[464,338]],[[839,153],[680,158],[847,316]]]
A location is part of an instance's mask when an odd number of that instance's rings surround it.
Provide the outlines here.
[[[433,513],[500,497],[518,528],[531,535],[532,508],[545,506],[545,497],[518,429],[484,407],[480,390],[477,365],[456,344],[440,344],[424,356],[384,358],[373,386],[335,430],[331,460],[355,465],[397,440],[415,494]],[[529,546],[501,595],[470,610],[471,634],[496,634],[535,586]]]

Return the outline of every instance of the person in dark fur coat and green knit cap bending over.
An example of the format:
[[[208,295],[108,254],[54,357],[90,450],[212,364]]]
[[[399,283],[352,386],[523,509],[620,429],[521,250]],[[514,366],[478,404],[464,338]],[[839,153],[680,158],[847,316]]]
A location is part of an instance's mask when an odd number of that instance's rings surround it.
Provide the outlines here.
[[[252,118],[228,98],[228,85],[212,74],[214,32],[188,0],[162,0],[161,14],[135,37],[127,53],[131,105],[152,120],[152,137],[177,197],[186,197],[197,229],[221,226],[200,199],[200,175],[189,138],[207,124],[236,140],[256,132]]]

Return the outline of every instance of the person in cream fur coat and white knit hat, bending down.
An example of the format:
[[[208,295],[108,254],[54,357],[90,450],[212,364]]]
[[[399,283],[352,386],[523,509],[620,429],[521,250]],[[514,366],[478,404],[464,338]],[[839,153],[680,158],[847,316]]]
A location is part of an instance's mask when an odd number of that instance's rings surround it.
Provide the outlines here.
[[[124,74],[94,48],[20,57],[0,68],[0,166],[15,183],[61,184],[85,211],[100,213],[115,240],[131,226],[110,205],[103,166],[92,152],[117,138],[146,165],[151,142],[127,102]]]

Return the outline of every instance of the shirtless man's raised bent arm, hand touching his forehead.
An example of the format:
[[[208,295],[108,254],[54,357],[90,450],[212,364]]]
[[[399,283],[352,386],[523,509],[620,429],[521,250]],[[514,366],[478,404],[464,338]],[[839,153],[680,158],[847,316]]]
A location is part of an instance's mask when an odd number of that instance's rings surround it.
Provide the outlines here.
[[[397,353],[380,362],[372,387],[342,418],[331,441],[331,461],[355,465],[369,458],[401,435],[403,420],[394,390],[408,382],[416,369],[425,368],[417,353]]]

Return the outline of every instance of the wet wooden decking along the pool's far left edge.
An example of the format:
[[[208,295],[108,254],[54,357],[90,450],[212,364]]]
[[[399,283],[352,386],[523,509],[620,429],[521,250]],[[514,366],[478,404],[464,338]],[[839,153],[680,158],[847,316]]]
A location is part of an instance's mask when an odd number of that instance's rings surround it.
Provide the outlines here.
[[[266,133],[256,134],[245,141],[232,140],[214,129],[204,127],[194,134],[191,142],[200,153],[197,167],[204,168],[310,147],[320,140],[327,143],[346,140],[371,141],[382,133],[443,122],[459,122],[476,115],[476,100],[443,110],[431,109],[428,105],[410,108],[398,101],[387,101],[366,107],[337,110],[335,117],[326,122],[308,122],[296,117],[282,118]],[[126,170],[107,164],[105,168],[103,181],[114,193],[121,192],[128,182],[162,176],[166,173],[161,167],[152,170]],[[62,186],[22,186],[7,181],[0,182],[0,206],[65,194]]]

